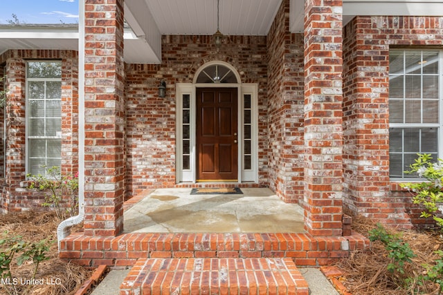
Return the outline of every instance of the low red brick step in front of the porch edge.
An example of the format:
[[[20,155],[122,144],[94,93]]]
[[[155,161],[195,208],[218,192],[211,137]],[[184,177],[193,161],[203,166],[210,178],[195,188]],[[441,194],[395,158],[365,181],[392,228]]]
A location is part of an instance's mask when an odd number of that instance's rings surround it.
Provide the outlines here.
[[[141,258],[120,286],[131,294],[309,294],[291,258]]]

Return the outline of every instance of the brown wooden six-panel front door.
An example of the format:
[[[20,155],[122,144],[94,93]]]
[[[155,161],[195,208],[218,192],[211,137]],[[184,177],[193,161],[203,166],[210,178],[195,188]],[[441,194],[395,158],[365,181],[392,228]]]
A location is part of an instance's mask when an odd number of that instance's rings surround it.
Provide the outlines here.
[[[197,88],[197,181],[237,181],[237,88]]]

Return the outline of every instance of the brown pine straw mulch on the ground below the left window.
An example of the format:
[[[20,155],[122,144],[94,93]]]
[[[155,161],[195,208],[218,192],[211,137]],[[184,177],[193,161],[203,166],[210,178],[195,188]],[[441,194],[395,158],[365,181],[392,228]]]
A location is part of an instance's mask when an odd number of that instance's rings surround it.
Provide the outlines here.
[[[17,289],[15,294],[75,294],[82,283],[91,275],[90,270],[58,258],[57,225],[59,223],[60,220],[53,212],[26,211],[0,215],[0,234],[8,231],[8,235],[22,236],[23,240],[29,242],[37,242],[45,238],[53,241],[47,254],[50,259],[39,264],[35,276],[36,279],[43,278],[44,282],[53,282],[53,285],[46,283],[43,285],[30,284],[29,293],[26,293],[28,292],[26,289],[28,285],[18,283],[15,285]],[[30,279],[32,277],[32,261],[21,266],[18,266],[17,263],[11,263],[10,268],[12,278],[17,278],[18,281],[21,278]],[[3,286],[0,287],[0,294],[8,294]]]

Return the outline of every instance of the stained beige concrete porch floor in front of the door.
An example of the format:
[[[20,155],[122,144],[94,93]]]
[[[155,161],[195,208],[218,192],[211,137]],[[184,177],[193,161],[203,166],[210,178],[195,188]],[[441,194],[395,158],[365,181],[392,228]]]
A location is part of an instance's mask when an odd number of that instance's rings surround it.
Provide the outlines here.
[[[124,213],[125,233],[303,233],[303,209],[270,189],[190,195],[156,189]]]

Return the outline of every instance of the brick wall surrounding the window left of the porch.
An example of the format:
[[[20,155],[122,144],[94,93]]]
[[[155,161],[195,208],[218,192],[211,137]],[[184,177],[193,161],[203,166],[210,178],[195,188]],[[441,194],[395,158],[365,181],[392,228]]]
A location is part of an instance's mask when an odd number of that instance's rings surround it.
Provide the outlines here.
[[[6,177],[1,183],[0,209],[2,212],[22,209],[42,209],[43,195],[26,189],[26,59],[60,59],[62,61],[62,110],[77,110],[77,52],[69,50],[9,50],[0,56],[6,63]],[[65,120],[66,119],[66,120]],[[64,113],[62,118],[62,153],[69,155],[62,162],[62,171],[76,171],[77,150],[76,115]],[[73,156],[73,157],[72,157]]]

